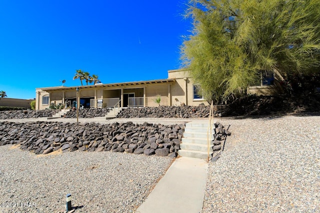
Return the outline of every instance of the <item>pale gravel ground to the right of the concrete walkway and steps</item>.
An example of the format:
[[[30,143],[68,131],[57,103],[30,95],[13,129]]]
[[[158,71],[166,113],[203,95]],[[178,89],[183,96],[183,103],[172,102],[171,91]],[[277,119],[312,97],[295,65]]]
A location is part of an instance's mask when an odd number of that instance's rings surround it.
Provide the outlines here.
[[[232,135],[209,163],[203,213],[320,212],[320,117],[221,123]]]

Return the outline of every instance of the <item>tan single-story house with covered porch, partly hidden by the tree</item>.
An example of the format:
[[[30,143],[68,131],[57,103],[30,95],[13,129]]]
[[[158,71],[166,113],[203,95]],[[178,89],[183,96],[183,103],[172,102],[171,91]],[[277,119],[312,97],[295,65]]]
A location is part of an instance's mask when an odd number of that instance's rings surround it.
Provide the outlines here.
[[[269,79],[270,83],[273,84],[271,79]],[[49,104],[73,106],[76,101],[76,88],[77,86],[36,88],[35,109],[48,108]],[[155,102],[157,97],[161,99],[160,105],[165,106],[179,106],[182,103],[190,106],[197,106],[200,103],[208,105],[199,92],[198,85],[188,77],[187,71],[183,69],[168,70],[167,79],[85,85],[78,86],[78,88],[79,102],[84,107],[158,106]],[[262,91],[266,95],[271,91],[269,89],[273,88],[275,86],[261,83],[261,86],[249,87],[248,92],[258,94]]]

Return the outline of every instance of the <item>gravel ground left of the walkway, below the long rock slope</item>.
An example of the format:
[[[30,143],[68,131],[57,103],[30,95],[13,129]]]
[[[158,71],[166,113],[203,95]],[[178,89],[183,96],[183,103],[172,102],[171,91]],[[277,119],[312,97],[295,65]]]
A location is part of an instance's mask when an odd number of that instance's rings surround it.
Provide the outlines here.
[[[13,207],[0,208],[0,212],[63,212],[68,193],[76,212],[133,212],[171,161],[167,157],[112,152],[36,156],[2,146],[0,203]]]

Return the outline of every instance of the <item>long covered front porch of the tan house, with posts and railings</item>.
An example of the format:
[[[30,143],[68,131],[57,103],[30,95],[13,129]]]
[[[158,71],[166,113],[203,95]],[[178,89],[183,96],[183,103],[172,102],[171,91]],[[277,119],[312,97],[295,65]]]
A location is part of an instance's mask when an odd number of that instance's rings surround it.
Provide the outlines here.
[[[146,107],[171,105],[171,85],[175,79],[38,88],[37,109],[50,104],[71,106],[78,95],[83,107]],[[77,90],[78,89],[78,90]],[[78,92],[77,92],[78,91]]]

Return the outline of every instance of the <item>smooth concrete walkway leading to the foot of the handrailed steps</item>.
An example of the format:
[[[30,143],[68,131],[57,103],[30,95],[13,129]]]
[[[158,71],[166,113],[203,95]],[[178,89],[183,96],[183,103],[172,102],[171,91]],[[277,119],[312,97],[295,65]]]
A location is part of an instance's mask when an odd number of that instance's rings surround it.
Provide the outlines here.
[[[135,213],[201,213],[205,160],[177,158]]]

